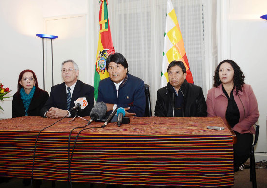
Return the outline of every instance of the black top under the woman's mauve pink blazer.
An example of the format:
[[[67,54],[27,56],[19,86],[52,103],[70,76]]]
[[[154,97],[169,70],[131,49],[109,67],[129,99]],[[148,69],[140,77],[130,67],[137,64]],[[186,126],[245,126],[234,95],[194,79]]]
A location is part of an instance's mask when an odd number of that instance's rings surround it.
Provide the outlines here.
[[[222,91],[224,92],[224,94],[226,95],[228,99],[228,105],[227,105],[227,109],[225,113],[225,118],[231,127],[234,127],[235,124],[239,122],[239,118],[240,118],[239,109],[233,96],[233,90],[230,92],[230,97],[229,97],[224,87],[222,86]]]

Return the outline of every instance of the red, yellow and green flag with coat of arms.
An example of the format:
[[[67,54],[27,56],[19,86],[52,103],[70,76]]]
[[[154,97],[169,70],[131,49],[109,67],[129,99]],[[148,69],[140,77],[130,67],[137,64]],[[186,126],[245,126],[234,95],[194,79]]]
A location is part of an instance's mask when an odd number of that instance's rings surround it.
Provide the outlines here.
[[[100,28],[94,78],[94,95],[96,101],[98,98],[98,85],[100,80],[109,77],[109,74],[106,69],[106,59],[110,54],[113,54],[115,52],[108,21],[107,0],[100,0],[99,2],[101,3],[99,10]]]

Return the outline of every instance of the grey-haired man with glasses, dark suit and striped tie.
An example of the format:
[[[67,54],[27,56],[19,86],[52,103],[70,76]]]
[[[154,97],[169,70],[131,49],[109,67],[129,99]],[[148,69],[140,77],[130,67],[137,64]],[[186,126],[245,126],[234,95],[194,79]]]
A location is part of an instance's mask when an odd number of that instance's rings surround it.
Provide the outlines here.
[[[78,115],[82,117],[89,116],[94,106],[94,87],[77,79],[79,67],[73,60],[64,61],[61,64],[61,72],[64,82],[51,88],[50,96],[40,111],[41,116],[48,118],[64,117],[79,97],[86,97],[88,106]],[[67,117],[73,116],[75,116],[74,111],[69,113]]]

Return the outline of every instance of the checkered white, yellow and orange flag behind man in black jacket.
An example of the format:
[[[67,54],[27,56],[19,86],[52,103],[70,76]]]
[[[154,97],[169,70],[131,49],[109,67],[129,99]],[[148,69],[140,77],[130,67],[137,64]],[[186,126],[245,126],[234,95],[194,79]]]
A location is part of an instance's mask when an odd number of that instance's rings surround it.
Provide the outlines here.
[[[187,73],[186,80],[189,83],[194,83],[177,17],[171,0],[168,0],[160,87],[167,85],[169,81],[167,68],[174,60],[184,63]]]

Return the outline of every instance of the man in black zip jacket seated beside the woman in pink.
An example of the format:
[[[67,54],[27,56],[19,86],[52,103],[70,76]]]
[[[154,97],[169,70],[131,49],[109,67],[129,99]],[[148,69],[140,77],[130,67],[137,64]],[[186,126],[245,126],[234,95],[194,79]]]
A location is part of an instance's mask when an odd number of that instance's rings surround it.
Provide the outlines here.
[[[207,116],[207,105],[202,88],[186,81],[186,68],[182,61],[172,61],[167,69],[169,82],[157,92],[155,116],[201,117]]]

